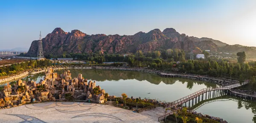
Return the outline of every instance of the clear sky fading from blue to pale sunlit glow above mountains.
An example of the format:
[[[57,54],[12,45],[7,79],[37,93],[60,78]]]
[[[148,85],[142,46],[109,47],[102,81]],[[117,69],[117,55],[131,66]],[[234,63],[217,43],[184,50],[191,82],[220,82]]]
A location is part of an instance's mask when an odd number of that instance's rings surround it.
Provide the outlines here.
[[[54,28],[133,35],[155,28],[256,46],[256,0],[1,0],[0,50],[29,48]]]

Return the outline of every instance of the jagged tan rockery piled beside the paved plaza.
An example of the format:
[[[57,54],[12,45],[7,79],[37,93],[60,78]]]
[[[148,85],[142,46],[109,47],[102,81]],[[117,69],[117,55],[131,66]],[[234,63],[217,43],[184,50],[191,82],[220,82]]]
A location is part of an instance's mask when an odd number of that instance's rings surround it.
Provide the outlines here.
[[[93,88],[99,88],[98,95],[93,94]],[[70,97],[67,97],[68,94]],[[45,78],[39,83],[35,81],[18,80],[17,84],[7,84],[0,92],[0,108],[7,106],[20,106],[31,102],[65,101],[68,99],[88,100],[104,103],[105,90],[96,86],[96,82],[84,79],[81,74],[71,79],[70,71],[61,75],[54,73],[52,68],[45,71]]]

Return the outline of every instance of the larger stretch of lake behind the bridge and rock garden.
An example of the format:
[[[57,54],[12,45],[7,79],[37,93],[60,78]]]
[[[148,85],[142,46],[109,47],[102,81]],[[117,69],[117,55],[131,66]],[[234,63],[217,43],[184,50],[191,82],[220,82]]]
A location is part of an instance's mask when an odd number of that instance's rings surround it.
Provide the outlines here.
[[[58,74],[65,70],[55,70]],[[95,80],[96,85],[105,89],[109,95],[121,96],[126,93],[129,97],[158,99],[159,101],[175,101],[207,87],[216,87],[216,84],[182,78],[161,78],[150,73],[126,71],[101,71],[87,69],[70,69],[72,78],[79,73],[88,80]],[[44,73],[23,78],[37,83],[44,78]],[[150,93],[150,94],[148,94]]]

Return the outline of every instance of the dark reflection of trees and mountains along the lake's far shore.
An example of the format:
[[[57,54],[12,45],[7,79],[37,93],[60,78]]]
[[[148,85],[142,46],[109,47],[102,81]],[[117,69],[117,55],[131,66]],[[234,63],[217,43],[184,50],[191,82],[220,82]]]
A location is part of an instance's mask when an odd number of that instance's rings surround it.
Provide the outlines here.
[[[64,73],[65,70],[55,70],[58,74]],[[207,87],[216,87],[216,84],[212,84],[204,81],[196,81],[191,79],[182,78],[162,78],[159,75],[143,72],[129,72],[129,71],[102,71],[102,70],[91,70],[91,69],[70,69],[72,78],[77,77],[79,73],[83,75],[84,78],[92,79],[95,81],[118,81],[136,79],[138,81],[148,81],[152,84],[160,84],[163,82],[165,84],[174,84],[176,81],[182,82],[184,84],[187,82],[187,88],[192,89],[194,84],[204,84]]]

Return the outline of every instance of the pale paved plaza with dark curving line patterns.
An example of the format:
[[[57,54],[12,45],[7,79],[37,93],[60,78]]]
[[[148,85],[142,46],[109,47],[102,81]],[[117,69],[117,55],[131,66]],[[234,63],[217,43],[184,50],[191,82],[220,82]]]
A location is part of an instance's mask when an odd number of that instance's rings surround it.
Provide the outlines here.
[[[34,103],[0,109],[0,123],[158,123],[113,106],[84,102]]]

